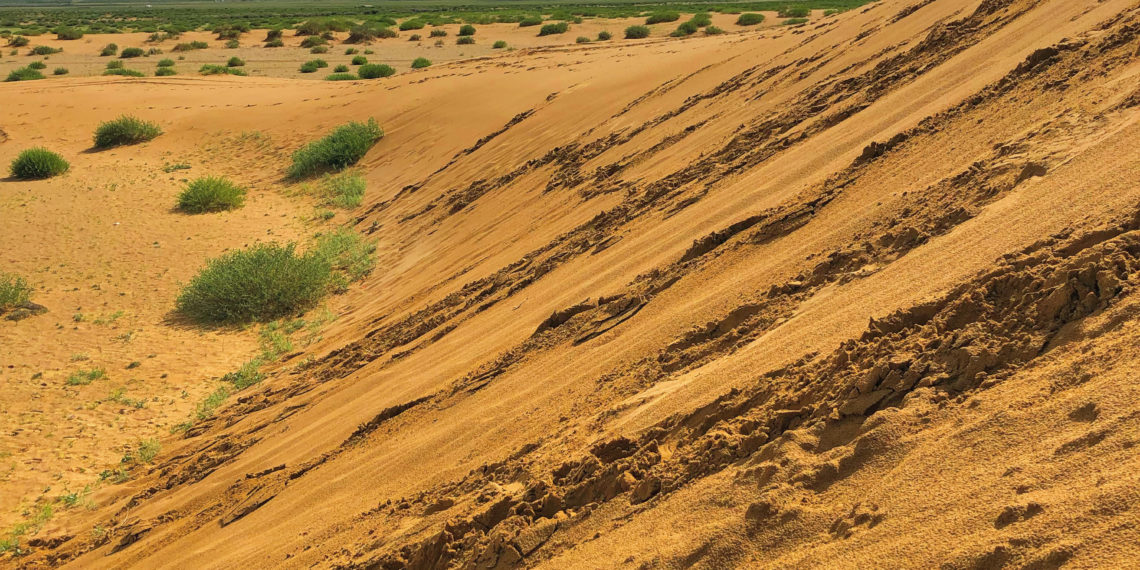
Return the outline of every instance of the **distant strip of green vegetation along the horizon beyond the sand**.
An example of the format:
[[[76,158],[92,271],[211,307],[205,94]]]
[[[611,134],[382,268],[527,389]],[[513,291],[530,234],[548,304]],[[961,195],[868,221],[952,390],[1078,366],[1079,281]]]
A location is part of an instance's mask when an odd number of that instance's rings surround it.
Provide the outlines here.
[[[572,21],[581,17],[634,17],[668,8],[675,11],[741,13],[803,7],[847,10],[873,0],[759,0],[750,2],[652,0],[391,0],[359,1],[250,0],[16,0],[0,6],[0,33],[39,35],[57,28],[83,33],[188,32],[239,25],[247,28],[292,28],[312,18],[343,18],[350,24],[393,25],[416,17],[427,25],[450,23],[518,23],[528,16]]]

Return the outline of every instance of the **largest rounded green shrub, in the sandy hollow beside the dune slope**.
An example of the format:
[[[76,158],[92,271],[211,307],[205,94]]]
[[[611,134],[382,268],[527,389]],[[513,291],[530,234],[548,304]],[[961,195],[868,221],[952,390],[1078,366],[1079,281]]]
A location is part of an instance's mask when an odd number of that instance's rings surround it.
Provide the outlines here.
[[[296,315],[332,283],[325,254],[294,244],[258,244],[211,259],[178,295],[177,309],[198,323],[247,323]]]

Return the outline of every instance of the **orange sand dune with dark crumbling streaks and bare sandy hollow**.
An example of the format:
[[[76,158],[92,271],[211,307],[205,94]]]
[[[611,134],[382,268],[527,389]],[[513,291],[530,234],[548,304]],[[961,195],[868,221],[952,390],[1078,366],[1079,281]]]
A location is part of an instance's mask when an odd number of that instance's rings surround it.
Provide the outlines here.
[[[385,130],[365,204],[326,222],[378,243],[337,318],[5,564],[1140,560],[1134,0],[882,0],[383,82],[75,78],[0,98],[0,160],[74,156],[62,179],[0,181],[3,261],[49,307],[0,324],[3,421],[25,422],[3,443],[52,469],[74,464],[46,458],[65,429],[108,422],[40,386],[72,347],[99,347],[112,380],[156,353],[138,370],[158,398],[207,391],[256,333],[172,326],[177,283],[311,234],[287,153],[350,120]],[[166,133],[83,153],[123,111]],[[179,218],[162,166],[181,156],[264,192]],[[123,328],[140,337],[108,340]],[[5,497],[44,484],[16,473]]]

